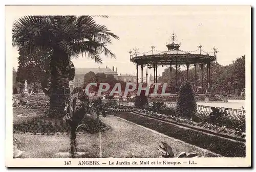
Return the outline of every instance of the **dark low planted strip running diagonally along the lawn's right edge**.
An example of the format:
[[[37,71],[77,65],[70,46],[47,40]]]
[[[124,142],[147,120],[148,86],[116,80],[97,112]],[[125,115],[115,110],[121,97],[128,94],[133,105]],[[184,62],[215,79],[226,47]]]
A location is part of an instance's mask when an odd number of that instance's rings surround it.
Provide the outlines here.
[[[245,157],[245,143],[243,142],[209,135],[134,113],[116,112],[114,115],[225,157]]]

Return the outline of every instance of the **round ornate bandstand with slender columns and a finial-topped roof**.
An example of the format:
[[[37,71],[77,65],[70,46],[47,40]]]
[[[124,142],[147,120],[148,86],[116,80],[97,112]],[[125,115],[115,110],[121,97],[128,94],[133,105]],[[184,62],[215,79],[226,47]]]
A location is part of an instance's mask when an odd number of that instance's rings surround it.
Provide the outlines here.
[[[207,94],[210,94],[210,89],[211,89],[211,80],[210,80],[210,68],[211,68],[211,63],[216,61],[217,56],[217,49],[213,48],[214,52],[212,56],[204,52],[202,50],[202,45],[198,46],[198,50],[192,51],[192,52],[186,52],[183,50],[180,50],[180,44],[176,42],[175,35],[173,34],[172,36],[172,41],[171,43],[166,44],[167,51],[160,52],[160,53],[155,53],[154,48],[155,46],[152,46],[152,50],[146,53],[139,53],[138,49],[135,48],[134,52],[130,51],[130,61],[136,64],[136,71],[137,71],[137,84],[138,84],[138,70],[139,66],[141,68],[141,83],[143,83],[143,67],[146,67],[146,84],[147,84],[147,68],[154,69],[154,83],[157,83],[157,68],[159,66],[169,66],[170,73],[172,73],[172,68],[176,69],[176,77],[175,80],[173,80],[173,76],[170,75],[169,79],[169,88],[170,88],[170,93],[177,94],[180,85],[178,85],[178,70],[181,65],[186,66],[187,70],[187,80],[189,79],[189,66],[194,65],[195,66],[195,82],[194,82],[194,88],[201,88],[199,90],[199,94],[203,94],[204,96]],[[196,54],[198,52],[198,54]],[[133,55],[131,55],[134,53]],[[150,53],[150,54],[148,54]],[[138,54],[142,54],[138,56]],[[147,54],[147,55],[146,55]],[[207,71],[203,71],[203,67],[206,65]],[[197,70],[198,68],[201,68],[201,76],[197,76]],[[207,87],[203,87],[203,72],[207,72]],[[201,84],[197,85],[197,79],[198,77],[201,77]],[[205,88],[205,89],[203,89]]]

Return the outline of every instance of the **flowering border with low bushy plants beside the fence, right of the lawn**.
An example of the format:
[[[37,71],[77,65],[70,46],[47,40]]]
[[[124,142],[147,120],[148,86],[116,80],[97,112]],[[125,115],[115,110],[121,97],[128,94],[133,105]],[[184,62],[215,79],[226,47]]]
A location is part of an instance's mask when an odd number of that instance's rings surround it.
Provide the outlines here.
[[[197,126],[204,128],[203,130],[212,131],[214,133],[221,133],[231,136],[234,139],[241,140],[245,137],[245,116],[241,114],[239,119],[233,119],[222,113],[216,120],[209,120],[209,116],[202,112],[197,112],[191,119],[184,118],[176,114],[173,108],[161,107],[159,111],[154,111],[149,108],[137,109],[132,106],[111,106],[108,108],[113,112],[135,112],[147,116],[156,117],[159,119],[175,122],[185,126]],[[243,139],[242,139],[243,140]]]

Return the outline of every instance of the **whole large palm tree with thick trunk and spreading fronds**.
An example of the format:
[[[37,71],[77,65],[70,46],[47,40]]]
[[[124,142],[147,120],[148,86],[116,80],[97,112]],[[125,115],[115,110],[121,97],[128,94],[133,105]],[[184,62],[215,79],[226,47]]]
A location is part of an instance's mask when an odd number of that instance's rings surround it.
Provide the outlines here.
[[[63,86],[69,87],[70,58],[82,55],[97,63],[102,63],[102,53],[115,58],[106,45],[112,43],[112,38],[119,39],[104,25],[97,24],[92,16],[24,16],[14,21],[12,31],[12,45],[28,55],[38,48],[53,51],[50,60],[53,115],[61,115],[59,112],[65,107]]]

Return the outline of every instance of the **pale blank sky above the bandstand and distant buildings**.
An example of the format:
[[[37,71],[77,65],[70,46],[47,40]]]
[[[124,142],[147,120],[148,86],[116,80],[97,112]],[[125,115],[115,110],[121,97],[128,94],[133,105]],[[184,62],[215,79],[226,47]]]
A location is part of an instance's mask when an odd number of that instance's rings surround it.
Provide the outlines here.
[[[104,24],[119,40],[114,40],[108,45],[116,55],[116,59],[104,57],[103,64],[94,63],[87,57],[72,59],[75,67],[105,67],[116,69],[118,74],[135,74],[136,65],[130,62],[130,50],[135,47],[138,52],[148,52],[151,46],[155,51],[166,51],[166,43],[170,36],[176,34],[177,41],[181,43],[181,50],[194,51],[201,44],[202,50],[212,52],[218,48],[217,61],[222,65],[232,63],[236,58],[246,55],[248,50],[248,13],[243,10],[234,11],[222,8],[217,11],[182,11],[168,15],[110,15],[109,18],[95,17],[99,24]],[[18,19],[21,16],[17,16]],[[247,42],[246,42],[247,41]],[[247,48],[247,49],[246,49]],[[248,52],[248,51],[247,51]],[[13,48],[12,64],[17,69],[18,52]],[[158,75],[164,71],[160,66]],[[139,76],[140,75],[139,68]],[[148,70],[152,73],[153,69]],[[144,69],[145,74],[145,69]]]

